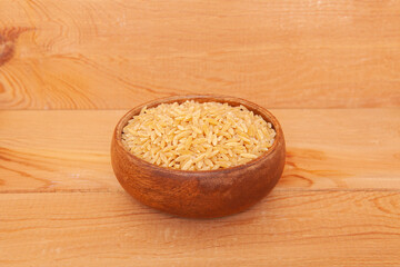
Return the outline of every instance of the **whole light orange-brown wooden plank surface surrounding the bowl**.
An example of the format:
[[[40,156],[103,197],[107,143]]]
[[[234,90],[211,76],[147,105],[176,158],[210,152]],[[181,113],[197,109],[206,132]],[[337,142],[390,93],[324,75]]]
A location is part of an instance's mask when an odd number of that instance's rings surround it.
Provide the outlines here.
[[[129,197],[130,108],[242,97],[288,157],[250,210]],[[399,1],[0,0],[0,266],[400,266]]]

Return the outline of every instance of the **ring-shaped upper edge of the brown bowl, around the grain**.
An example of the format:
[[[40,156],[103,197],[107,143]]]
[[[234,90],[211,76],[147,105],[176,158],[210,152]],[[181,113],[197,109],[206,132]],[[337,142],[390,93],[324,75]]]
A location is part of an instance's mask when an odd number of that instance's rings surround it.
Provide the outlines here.
[[[244,106],[247,109],[249,109],[250,111],[253,111],[256,115],[260,115],[267,122],[270,122],[272,125],[272,128],[276,130],[276,138],[272,144],[272,146],[266,151],[263,152],[261,156],[259,156],[256,159],[252,159],[243,165],[238,165],[238,166],[233,166],[233,167],[229,167],[229,168],[222,168],[222,169],[217,169],[217,170],[181,170],[181,169],[173,169],[173,168],[166,168],[166,167],[160,167],[158,165],[153,165],[150,164],[148,161],[146,161],[144,159],[141,159],[137,156],[134,156],[133,154],[131,154],[122,144],[122,130],[123,127],[126,127],[128,125],[128,121],[130,119],[132,119],[133,116],[138,115],[140,112],[140,110],[146,106],[147,108],[153,108],[157,107],[160,103],[173,103],[173,102],[178,102],[178,103],[182,103],[187,100],[194,100],[197,102],[222,102],[222,103],[228,103],[232,107],[237,107],[237,106]],[[281,138],[281,136],[283,135],[282,129],[280,123],[278,122],[277,118],[269,112],[267,109],[247,101],[244,99],[241,98],[234,98],[234,97],[227,97],[227,96],[214,96],[214,95],[189,95],[189,96],[176,96],[176,97],[169,97],[169,98],[161,98],[161,99],[157,99],[143,105],[140,105],[133,109],[131,109],[130,111],[128,111],[122,118],[121,120],[118,122],[117,127],[116,127],[116,131],[114,131],[114,138],[117,140],[117,145],[121,146],[124,151],[127,154],[129,154],[133,160],[139,160],[141,164],[143,165],[149,165],[149,167],[152,168],[157,168],[160,170],[166,170],[168,169],[169,171],[178,171],[178,172],[190,172],[190,174],[204,174],[204,172],[221,172],[221,171],[226,171],[226,170],[232,170],[232,169],[238,169],[238,168],[246,168],[249,167],[251,165],[257,164],[258,161],[262,160],[263,158],[268,157],[268,155],[272,154],[276,148],[277,148],[277,140]]]

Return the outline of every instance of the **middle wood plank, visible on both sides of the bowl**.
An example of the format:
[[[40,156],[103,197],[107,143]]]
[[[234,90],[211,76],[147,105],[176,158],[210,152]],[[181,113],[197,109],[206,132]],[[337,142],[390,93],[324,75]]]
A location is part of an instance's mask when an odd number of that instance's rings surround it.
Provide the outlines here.
[[[400,189],[400,109],[272,110],[287,139],[277,190]],[[2,111],[0,192],[122,190],[110,139],[124,110]]]

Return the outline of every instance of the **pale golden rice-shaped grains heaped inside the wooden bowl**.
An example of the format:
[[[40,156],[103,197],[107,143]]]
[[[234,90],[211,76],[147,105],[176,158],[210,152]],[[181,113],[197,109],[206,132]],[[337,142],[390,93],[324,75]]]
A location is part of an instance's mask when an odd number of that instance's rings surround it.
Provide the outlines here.
[[[270,122],[243,106],[186,101],[144,107],[123,128],[122,142],[151,164],[214,170],[259,157],[274,136]]]

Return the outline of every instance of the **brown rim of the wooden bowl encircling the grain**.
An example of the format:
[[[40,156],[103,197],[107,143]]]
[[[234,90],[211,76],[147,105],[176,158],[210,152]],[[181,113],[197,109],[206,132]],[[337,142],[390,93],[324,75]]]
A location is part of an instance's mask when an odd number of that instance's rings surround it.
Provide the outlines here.
[[[242,105],[250,111],[253,111],[254,113],[260,115],[267,122],[270,122],[272,125],[272,128],[276,130],[276,138],[274,138],[272,146],[267,151],[264,151],[262,155],[260,155],[259,157],[257,157],[246,164],[237,165],[237,166],[232,166],[232,167],[228,167],[228,168],[216,169],[216,170],[182,170],[182,169],[161,167],[156,164],[148,162],[147,160],[144,160],[142,158],[139,158],[138,156],[130,152],[126,146],[123,146],[123,144],[122,144],[123,127],[128,123],[128,121],[130,119],[133,118],[133,116],[138,115],[143,107],[153,108],[161,103],[172,103],[176,101],[184,102],[187,100],[196,101],[196,100],[209,99],[209,98],[212,98],[213,100],[211,100],[211,101],[216,101],[216,102],[222,102],[222,103],[228,102],[229,103],[229,101],[231,101],[231,102],[238,103],[238,106]],[[207,102],[207,101],[204,101],[204,102]],[[241,170],[241,169],[246,169],[251,166],[254,166],[254,165],[261,162],[262,160],[264,160],[266,158],[268,158],[268,156],[270,156],[272,152],[274,152],[277,150],[278,139],[282,139],[284,141],[283,131],[282,131],[282,128],[281,128],[278,119],[266,108],[263,108],[254,102],[251,102],[249,100],[242,99],[242,98],[230,97],[230,96],[224,96],[224,95],[212,95],[212,93],[178,95],[178,96],[172,96],[172,97],[157,98],[157,99],[147,101],[144,103],[138,105],[134,108],[130,109],[128,112],[126,112],[120,118],[120,120],[118,121],[118,123],[116,126],[116,129],[113,132],[113,138],[116,139],[116,145],[119,146],[120,148],[122,148],[122,150],[128,155],[128,157],[130,159],[139,162],[140,165],[144,165],[144,166],[148,166],[149,168],[153,168],[153,169],[160,170],[160,171],[169,171],[169,172],[176,172],[176,174],[181,174],[181,175],[191,174],[191,175],[200,175],[200,176],[203,174],[231,172],[234,170]]]

